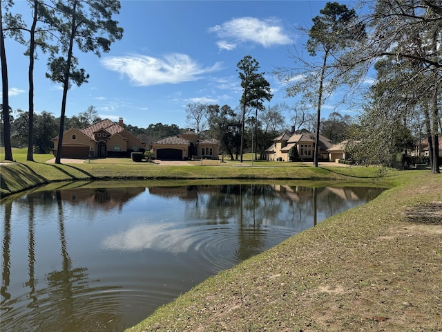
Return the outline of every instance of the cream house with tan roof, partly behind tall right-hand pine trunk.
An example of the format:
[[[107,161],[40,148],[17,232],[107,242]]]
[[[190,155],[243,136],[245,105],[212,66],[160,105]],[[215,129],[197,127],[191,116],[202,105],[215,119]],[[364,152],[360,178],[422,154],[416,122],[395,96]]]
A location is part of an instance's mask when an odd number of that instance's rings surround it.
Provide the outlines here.
[[[319,136],[319,159],[328,160],[327,149],[331,148],[332,141],[324,136]],[[289,161],[289,151],[296,147],[300,160],[313,160],[316,146],[316,133],[311,133],[307,129],[301,129],[289,133],[286,131],[282,135],[273,139],[273,145],[265,150],[267,160]]]

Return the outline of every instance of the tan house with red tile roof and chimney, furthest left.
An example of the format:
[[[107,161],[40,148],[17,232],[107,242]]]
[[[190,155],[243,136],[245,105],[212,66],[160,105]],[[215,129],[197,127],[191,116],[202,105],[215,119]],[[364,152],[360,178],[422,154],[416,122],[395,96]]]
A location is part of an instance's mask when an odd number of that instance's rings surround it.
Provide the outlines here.
[[[59,136],[52,138],[54,154],[57,155]],[[63,133],[62,158],[105,158],[107,156],[130,156],[133,151],[144,151],[146,143],[136,138],[123,127],[123,118],[118,123],[109,119],[86,128],[70,128]]]

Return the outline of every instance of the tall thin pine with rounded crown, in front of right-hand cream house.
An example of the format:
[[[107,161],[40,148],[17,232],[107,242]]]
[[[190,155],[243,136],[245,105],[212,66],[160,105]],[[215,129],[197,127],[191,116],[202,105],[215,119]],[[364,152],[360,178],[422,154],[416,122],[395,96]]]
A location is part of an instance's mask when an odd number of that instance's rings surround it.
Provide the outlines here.
[[[338,86],[349,84],[349,73],[340,68],[336,60],[340,53],[352,48],[365,37],[365,25],[358,22],[355,10],[328,2],[320,10],[320,15],[313,18],[311,28],[301,28],[309,37],[306,49],[314,62],[306,62],[300,56],[292,56],[300,68],[280,68],[276,75],[287,82],[287,95],[302,95],[311,107],[316,107],[316,144],[314,166],[318,167],[320,112],[325,100]],[[290,83],[294,77],[302,77]]]

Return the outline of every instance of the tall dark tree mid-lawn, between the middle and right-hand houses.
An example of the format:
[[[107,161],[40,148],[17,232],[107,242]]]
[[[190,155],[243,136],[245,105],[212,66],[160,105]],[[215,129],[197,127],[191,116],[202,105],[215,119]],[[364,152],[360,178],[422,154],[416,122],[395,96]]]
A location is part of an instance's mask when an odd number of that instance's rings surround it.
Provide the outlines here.
[[[238,62],[237,67],[242,87],[240,99],[240,107],[242,110],[240,161],[242,163],[244,126],[247,110],[253,107],[256,110],[255,118],[258,118],[258,109],[263,109],[262,100],[269,101],[273,98],[273,95],[270,93],[269,82],[264,78],[265,73],[258,73],[260,64],[256,59],[253,59],[250,55],[246,55]]]

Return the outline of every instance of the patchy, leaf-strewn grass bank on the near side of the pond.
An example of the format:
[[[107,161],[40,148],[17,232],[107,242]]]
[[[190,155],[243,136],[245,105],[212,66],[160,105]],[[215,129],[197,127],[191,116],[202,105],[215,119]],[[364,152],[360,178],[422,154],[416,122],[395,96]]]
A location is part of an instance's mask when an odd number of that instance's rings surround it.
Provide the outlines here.
[[[441,331],[442,177],[397,187],[219,273],[127,331]]]

